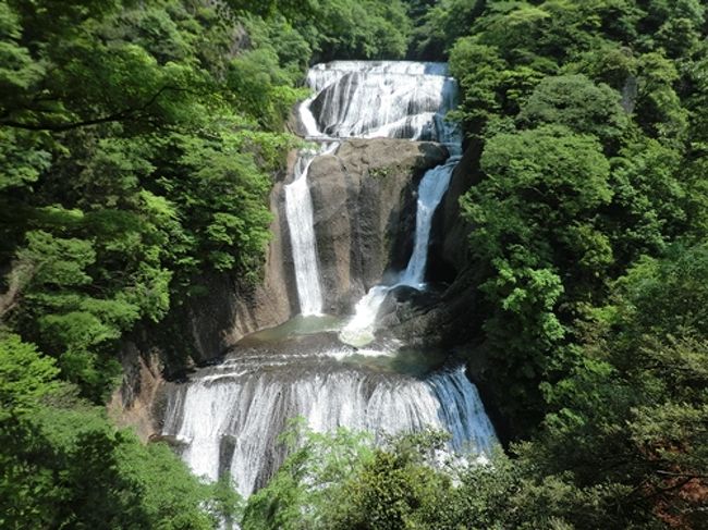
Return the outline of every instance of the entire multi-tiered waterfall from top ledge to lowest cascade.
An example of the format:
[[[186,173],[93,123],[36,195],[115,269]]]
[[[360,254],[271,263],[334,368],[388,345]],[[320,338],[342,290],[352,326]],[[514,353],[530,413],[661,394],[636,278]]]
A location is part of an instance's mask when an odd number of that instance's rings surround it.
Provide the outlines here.
[[[337,141],[347,137],[428,139],[448,147],[450,159],[420,182],[414,251],[394,282],[419,288],[432,214],[461,152],[455,127],[443,120],[455,97],[447,65],[335,61],[313,67],[307,84],[314,95],[301,104],[300,118],[307,138],[321,144],[320,155],[334,152]],[[320,313],[326,296],[317,272],[307,187],[313,157],[312,151],[301,153],[294,180],[285,186],[304,316]],[[342,342],[370,342],[378,309],[393,286],[377,285],[359,300],[356,313],[340,330]],[[277,437],[295,416],[318,431],[347,427],[371,431],[378,439],[384,432],[414,432],[429,426],[451,433],[450,451],[476,455],[490,451],[496,443],[493,428],[463,368],[438,363],[420,373],[402,371],[411,355],[342,346],[331,322],[327,325],[319,332],[303,332],[307,338],[290,324],[282,326],[283,334],[274,330],[254,334],[221,365],[198,371],[186,384],[173,385],[163,433],[181,441],[182,456],[195,473],[215,480],[230,471],[241,493],[248,495],[282,463],[285,454]],[[380,361],[371,365],[367,359],[391,361],[381,369]]]

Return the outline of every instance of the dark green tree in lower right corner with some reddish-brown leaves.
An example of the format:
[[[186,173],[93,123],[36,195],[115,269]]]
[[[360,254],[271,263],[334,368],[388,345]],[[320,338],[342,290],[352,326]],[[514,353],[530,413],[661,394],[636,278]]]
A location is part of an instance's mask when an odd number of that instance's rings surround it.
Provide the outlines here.
[[[708,350],[701,295],[693,293],[705,278],[704,252],[672,248],[618,282],[614,305],[587,326],[581,362],[546,385],[556,410],[524,451],[546,472],[572,470],[578,484],[622,485],[620,505],[654,509],[686,528],[706,521],[700,495],[691,494],[705,486],[708,451]]]

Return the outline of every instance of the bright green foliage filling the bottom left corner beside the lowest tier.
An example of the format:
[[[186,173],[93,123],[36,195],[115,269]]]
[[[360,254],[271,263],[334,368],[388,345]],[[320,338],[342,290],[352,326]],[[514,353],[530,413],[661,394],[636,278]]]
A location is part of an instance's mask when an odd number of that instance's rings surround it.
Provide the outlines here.
[[[0,336],[0,374],[3,528],[207,529],[237,516],[169,447],[77,400],[54,361],[16,335]]]

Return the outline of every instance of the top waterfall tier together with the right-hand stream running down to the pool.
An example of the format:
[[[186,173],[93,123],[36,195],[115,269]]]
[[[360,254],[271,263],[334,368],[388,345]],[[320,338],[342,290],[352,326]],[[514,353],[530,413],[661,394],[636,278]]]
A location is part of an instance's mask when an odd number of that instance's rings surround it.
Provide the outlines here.
[[[374,341],[379,309],[391,289],[400,285],[424,287],[432,217],[462,152],[456,125],[444,121],[444,114],[454,107],[456,89],[454,81],[445,76],[447,67],[439,63],[377,64],[371,69],[375,73],[367,71],[364,79],[350,63],[335,63],[334,72],[310,71],[312,86],[325,87],[317,97],[325,95],[319,126],[338,135],[434,139],[443,143],[451,156],[444,164],[427,171],[418,186],[414,247],[407,267],[392,284],[371,287],[340,332],[342,342],[357,347]],[[386,110],[370,101],[381,102]],[[306,118],[308,127],[317,126],[310,116]],[[310,135],[317,132],[308,128]]]

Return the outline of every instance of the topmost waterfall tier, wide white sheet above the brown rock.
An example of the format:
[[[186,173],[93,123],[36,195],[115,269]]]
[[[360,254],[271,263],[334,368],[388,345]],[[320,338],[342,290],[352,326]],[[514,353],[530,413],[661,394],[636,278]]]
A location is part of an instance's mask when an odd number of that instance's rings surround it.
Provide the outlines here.
[[[315,91],[301,107],[309,137],[379,137],[454,143],[443,120],[456,83],[445,63],[334,61],[310,69]]]

